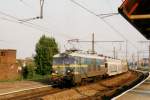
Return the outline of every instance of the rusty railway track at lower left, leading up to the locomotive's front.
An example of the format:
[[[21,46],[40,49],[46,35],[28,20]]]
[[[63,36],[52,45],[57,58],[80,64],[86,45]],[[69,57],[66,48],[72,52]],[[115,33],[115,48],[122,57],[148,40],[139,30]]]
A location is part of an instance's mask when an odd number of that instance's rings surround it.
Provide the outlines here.
[[[25,89],[0,95],[0,100],[40,100],[40,97],[64,91],[66,89],[52,88],[52,86]]]

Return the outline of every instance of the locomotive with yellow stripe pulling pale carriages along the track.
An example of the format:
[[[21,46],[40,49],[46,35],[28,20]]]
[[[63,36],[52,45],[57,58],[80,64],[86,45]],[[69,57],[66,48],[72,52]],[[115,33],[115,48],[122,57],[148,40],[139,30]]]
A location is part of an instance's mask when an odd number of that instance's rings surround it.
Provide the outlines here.
[[[78,85],[128,71],[125,60],[81,51],[67,51],[53,57],[51,84]]]

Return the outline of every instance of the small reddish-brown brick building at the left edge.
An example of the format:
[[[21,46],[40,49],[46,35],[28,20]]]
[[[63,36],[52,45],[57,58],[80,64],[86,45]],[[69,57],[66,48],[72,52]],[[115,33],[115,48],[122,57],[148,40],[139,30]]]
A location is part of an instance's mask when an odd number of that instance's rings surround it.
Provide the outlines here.
[[[0,49],[0,80],[12,80],[18,77],[16,50]]]

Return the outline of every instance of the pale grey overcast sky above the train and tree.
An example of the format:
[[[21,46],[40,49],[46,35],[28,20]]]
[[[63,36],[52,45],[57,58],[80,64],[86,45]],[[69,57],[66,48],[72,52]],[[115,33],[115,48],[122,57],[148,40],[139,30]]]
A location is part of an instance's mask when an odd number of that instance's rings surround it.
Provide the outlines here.
[[[75,0],[96,14],[116,13],[122,0]],[[119,33],[110,28],[103,20],[90,14],[70,0],[45,0],[43,19],[19,23],[17,19],[36,17],[40,0],[1,0],[0,1],[0,48],[17,49],[17,58],[31,57],[35,54],[35,44],[45,34],[56,38],[61,51],[70,46],[67,40],[78,38],[90,40],[95,33],[95,40],[129,41],[130,54],[139,48],[137,41],[145,38],[121,15],[105,18]],[[7,15],[6,15],[7,14]],[[9,15],[9,16],[8,16]],[[11,15],[11,16],[10,16]],[[17,19],[16,19],[17,18]],[[120,36],[123,35],[124,37]],[[64,46],[65,45],[65,46]],[[133,46],[134,45],[134,46]],[[112,55],[112,48],[125,51],[125,44],[98,43],[98,53]],[[80,44],[77,48],[88,50],[91,45]],[[139,48],[140,49],[140,48]]]

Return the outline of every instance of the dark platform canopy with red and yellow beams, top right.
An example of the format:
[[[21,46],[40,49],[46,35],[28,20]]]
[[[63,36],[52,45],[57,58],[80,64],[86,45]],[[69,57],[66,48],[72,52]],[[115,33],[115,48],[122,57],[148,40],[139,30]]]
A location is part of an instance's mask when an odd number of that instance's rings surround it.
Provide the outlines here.
[[[150,0],[125,0],[119,13],[150,40]]]

